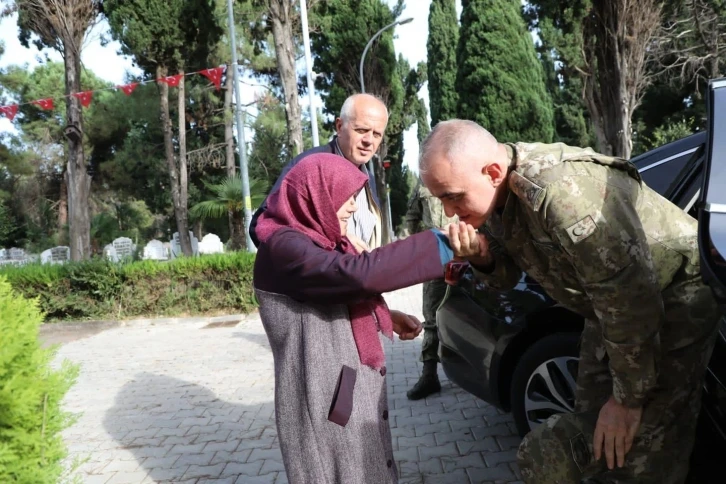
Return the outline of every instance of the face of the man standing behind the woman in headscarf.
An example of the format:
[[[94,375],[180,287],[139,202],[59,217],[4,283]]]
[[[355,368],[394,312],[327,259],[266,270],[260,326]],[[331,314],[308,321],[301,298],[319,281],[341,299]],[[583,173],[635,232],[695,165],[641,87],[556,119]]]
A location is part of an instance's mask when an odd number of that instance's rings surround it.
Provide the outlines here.
[[[386,124],[388,117],[380,102],[358,99],[350,119],[335,120],[338,145],[343,156],[356,165],[367,163],[381,146]]]

